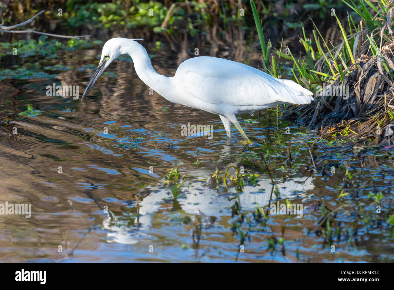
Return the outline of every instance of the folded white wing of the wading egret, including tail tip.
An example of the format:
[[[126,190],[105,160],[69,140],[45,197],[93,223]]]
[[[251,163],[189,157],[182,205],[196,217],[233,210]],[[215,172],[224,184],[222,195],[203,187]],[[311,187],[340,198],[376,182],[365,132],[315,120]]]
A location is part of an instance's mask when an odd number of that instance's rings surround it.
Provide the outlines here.
[[[194,97],[212,104],[266,105],[277,101],[305,104],[312,92],[239,62],[199,56],[183,62],[175,78]]]

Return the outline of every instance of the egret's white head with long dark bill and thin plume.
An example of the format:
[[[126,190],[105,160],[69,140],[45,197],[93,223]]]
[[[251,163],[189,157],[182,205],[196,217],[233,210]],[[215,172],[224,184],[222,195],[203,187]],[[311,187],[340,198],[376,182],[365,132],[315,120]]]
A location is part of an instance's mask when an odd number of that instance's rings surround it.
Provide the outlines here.
[[[127,42],[130,40],[143,40],[143,39],[140,39],[140,38],[139,39],[128,39],[128,38],[117,37],[117,38],[112,38],[112,39],[108,40],[104,44],[104,47],[102,48],[102,51],[101,51],[101,58],[100,58],[99,66],[97,67],[97,70],[95,71],[95,74],[93,75],[89,84],[87,85],[85,92],[82,95],[82,99],[84,99],[85,95],[87,95],[89,90],[92,88],[93,84],[96,82],[96,80],[102,74],[102,72],[108,67],[108,65],[110,65],[111,62],[113,62],[119,55],[127,53],[125,51],[125,47],[127,46]]]

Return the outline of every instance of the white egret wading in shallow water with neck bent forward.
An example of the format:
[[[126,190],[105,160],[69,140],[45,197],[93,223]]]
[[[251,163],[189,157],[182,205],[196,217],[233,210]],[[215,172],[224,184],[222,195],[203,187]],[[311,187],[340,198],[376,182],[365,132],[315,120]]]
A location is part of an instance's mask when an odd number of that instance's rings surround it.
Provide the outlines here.
[[[232,122],[247,143],[251,143],[236,115],[273,107],[277,104],[309,104],[313,94],[292,80],[277,79],[250,67],[223,58],[198,56],[179,65],[173,77],[156,73],[146,49],[135,40],[122,37],[108,40],[102,49],[97,71],[82,99],[97,78],[121,54],[129,54],[138,77],[172,103],[219,115],[231,140]]]

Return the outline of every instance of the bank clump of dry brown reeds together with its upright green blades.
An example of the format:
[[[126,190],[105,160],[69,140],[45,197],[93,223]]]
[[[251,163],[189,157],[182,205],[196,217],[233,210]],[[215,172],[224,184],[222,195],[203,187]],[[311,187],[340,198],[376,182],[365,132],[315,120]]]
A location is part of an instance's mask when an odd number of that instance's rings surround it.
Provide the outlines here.
[[[394,5],[383,0],[374,4],[362,1],[361,8],[352,4],[349,6],[361,21],[356,26],[349,15],[351,34],[346,35],[338,20],[343,39],[340,45],[324,53],[314,32],[315,52],[305,35],[301,39],[307,58],[295,60],[292,56],[293,73],[300,84],[316,92],[315,101],[290,106],[283,118],[296,117],[311,129],[320,129],[324,138],[390,144],[394,127]]]

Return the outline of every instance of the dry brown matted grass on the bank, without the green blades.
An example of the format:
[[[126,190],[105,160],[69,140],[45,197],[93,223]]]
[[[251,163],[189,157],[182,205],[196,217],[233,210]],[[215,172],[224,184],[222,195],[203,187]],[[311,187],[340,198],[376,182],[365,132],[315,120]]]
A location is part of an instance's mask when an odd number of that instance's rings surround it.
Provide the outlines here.
[[[346,36],[353,43],[354,60],[342,61],[343,77],[339,72],[333,75],[325,89],[317,91],[314,102],[291,106],[283,118],[297,118],[310,129],[320,129],[323,138],[340,136],[356,143],[390,144],[394,127],[394,7],[389,2],[384,8],[387,13],[380,9],[373,18],[381,27],[371,31],[361,21],[357,32]],[[342,51],[346,43],[344,39],[331,53]],[[340,94],[346,86],[347,94]]]

